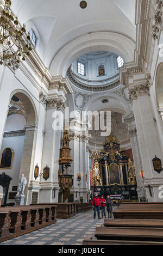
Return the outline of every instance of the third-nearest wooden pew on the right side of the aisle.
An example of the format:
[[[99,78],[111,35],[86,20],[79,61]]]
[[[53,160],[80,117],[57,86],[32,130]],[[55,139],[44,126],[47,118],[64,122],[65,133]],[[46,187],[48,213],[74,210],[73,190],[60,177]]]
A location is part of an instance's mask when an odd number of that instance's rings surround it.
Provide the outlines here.
[[[105,227],[163,228],[163,220],[104,219]]]

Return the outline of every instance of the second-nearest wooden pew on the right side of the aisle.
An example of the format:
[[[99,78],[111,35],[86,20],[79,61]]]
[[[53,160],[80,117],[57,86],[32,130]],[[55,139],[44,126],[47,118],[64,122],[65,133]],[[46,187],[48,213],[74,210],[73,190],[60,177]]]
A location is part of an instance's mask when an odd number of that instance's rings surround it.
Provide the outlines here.
[[[163,243],[163,228],[97,227],[98,240],[152,241]]]

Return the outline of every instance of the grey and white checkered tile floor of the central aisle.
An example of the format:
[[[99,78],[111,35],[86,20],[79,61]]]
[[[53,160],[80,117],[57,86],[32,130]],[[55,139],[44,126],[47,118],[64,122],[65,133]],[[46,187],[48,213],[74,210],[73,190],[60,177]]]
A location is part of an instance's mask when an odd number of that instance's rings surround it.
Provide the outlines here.
[[[85,236],[95,234],[96,226],[104,219],[93,220],[93,210],[77,214],[67,220],[33,231],[26,235],[4,241],[0,245],[82,245]]]

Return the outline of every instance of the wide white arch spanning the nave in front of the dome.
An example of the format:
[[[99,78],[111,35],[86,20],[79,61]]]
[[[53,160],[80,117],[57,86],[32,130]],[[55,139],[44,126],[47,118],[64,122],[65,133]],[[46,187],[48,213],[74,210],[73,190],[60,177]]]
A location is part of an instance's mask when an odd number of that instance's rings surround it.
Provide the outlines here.
[[[66,76],[74,60],[86,53],[109,51],[120,55],[125,62],[134,60],[135,42],[128,36],[116,32],[94,32],[72,40],[53,57],[49,69],[53,76]]]

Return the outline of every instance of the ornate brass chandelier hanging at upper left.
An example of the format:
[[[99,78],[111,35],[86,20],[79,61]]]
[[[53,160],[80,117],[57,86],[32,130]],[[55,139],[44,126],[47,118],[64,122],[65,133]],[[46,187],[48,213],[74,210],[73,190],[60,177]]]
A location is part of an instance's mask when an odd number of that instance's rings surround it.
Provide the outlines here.
[[[11,1],[5,0],[4,9],[0,11],[0,64],[15,70],[30,55],[32,47],[26,26],[20,25],[10,7]]]

